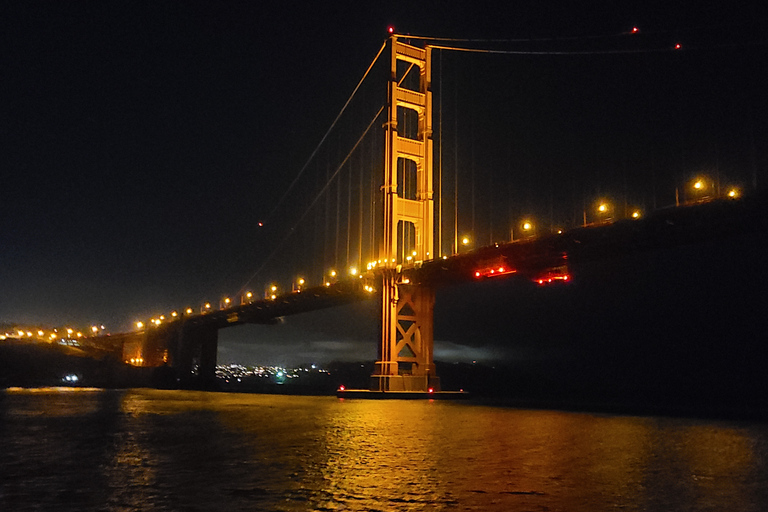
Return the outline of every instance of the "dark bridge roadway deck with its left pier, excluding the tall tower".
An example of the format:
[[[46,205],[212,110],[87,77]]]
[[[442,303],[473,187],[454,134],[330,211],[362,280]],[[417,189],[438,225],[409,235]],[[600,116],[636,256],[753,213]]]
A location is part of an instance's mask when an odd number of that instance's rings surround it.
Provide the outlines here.
[[[666,208],[638,220],[588,225],[561,234],[505,242],[406,266],[399,280],[416,286],[442,287],[511,274],[548,283],[550,279],[578,281],[581,263],[620,258],[631,253],[692,245],[729,236],[768,232],[768,195],[746,196]],[[566,277],[567,276],[567,277]],[[164,366],[175,370],[182,385],[194,385],[191,369],[199,363],[198,379],[212,381],[218,330],[245,323],[273,324],[294,315],[351,302],[377,294],[367,286],[381,282],[382,271],[340,280],[330,286],[307,288],[202,314],[184,315],[145,330],[82,340],[84,348],[111,352],[135,366]]]

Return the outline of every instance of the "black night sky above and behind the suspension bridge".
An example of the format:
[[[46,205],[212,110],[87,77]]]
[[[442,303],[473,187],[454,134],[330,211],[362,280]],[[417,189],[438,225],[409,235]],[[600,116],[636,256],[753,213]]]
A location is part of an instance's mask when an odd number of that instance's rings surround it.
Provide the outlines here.
[[[669,205],[701,171],[724,185],[768,180],[760,7],[417,4],[3,3],[0,321],[122,331],[236,293],[290,214],[257,223],[279,206],[390,24],[530,38],[491,46],[549,53],[441,57],[444,161],[452,170],[458,160],[460,223],[478,239],[521,215],[567,225],[598,195]],[[640,34],[625,34],[634,26]],[[670,51],[677,42],[682,50]],[[305,349],[370,359],[375,346],[358,341],[375,325],[350,329],[348,319],[362,311],[375,322],[376,308],[356,308],[335,321],[314,314],[222,332],[221,359]],[[279,343],[246,347],[254,337]],[[493,356],[443,337],[450,357]]]

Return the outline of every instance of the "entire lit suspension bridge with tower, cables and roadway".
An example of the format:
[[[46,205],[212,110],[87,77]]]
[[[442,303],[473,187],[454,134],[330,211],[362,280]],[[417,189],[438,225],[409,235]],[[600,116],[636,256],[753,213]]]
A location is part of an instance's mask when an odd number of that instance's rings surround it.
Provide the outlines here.
[[[362,136],[348,152],[342,152],[334,168],[328,164],[329,154],[318,155],[347,107],[350,111],[358,108],[353,93],[313,153],[314,160],[310,157],[264,219],[265,230],[283,226],[282,231],[271,232],[282,238],[237,299],[222,299],[218,308],[205,303],[199,311],[169,314],[139,323],[136,332],[90,338],[82,344],[113,350],[134,366],[167,365],[182,384],[193,379],[195,365],[197,378],[213,381],[220,329],[244,323],[270,324],[287,315],[378,300],[381,338],[371,390],[439,390],[433,362],[433,310],[435,290],[441,286],[512,275],[542,286],[567,285],[578,280],[583,262],[694,243],[738,230],[765,229],[762,200],[728,201],[738,197],[737,189],[729,192],[714,180],[699,178],[690,188],[683,187],[682,194],[676,191],[677,203],[687,203],[679,208],[643,214],[626,196],[623,208],[605,198],[590,201],[589,206],[582,200],[572,208],[570,223],[556,222],[550,215],[546,228],[545,222],[537,226],[533,217],[519,210],[510,214],[513,209],[497,200],[494,210],[506,212],[506,221],[486,224],[485,243],[479,242],[480,236],[465,237],[463,232],[479,232],[475,211],[480,208],[475,208],[473,196],[468,208],[471,229],[460,230],[460,197],[467,195],[467,189],[474,191],[475,182],[470,187],[459,185],[464,171],[459,172],[462,141],[458,132],[452,144],[445,144],[438,130],[438,147],[434,147],[433,47],[417,47],[402,39],[389,38],[355,89],[361,88],[370,73],[380,71],[388,84],[385,105],[378,112],[372,109],[372,117],[365,116],[366,123],[358,126]],[[385,50],[390,58],[379,59]],[[436,124],[441,129],[444,98],[450,95],[444,94],[442,83],[439,87]],[[356,112],[362,111],[361,107]],[[371,131],[377,123],[383,125],[383,137]],[[312,163],[317,160],[324,163]],[[452,187],[451,173],[443,168],[448,163],[453,170]],[[315,185],[308,183],[312,176]],[[287,198],[295,204],[294,196],[302,194],[306,200],[301,203],[308,205],[304,211],[281,210]],[[451,224],[453,229],[446,229]],[[296,254],[317,254],[322,261],[307,264]],[[267,264],[277,259],[293,282],[291,292],[281,292],[273,284],[266,286],[264,298],[246,292],[249,283],[261,278]],[[316,270],[301,273],[301,268],[310,267]]]

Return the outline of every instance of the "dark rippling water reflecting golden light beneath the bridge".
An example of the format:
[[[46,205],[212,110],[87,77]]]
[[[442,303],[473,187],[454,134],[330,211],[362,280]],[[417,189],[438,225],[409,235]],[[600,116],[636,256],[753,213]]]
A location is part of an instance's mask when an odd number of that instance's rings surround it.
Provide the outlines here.
[[[762,424],[52,389],[0,420],[2,510],[768,510]]]

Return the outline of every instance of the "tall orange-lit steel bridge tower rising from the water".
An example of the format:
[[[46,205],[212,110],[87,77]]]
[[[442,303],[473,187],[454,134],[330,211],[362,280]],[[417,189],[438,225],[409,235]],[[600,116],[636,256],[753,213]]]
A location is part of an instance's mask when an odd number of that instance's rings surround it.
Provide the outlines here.
[[[390,42],[382,187],[384,237],[379,253],[383,268],[382,328],[371,389],[437,391],[440,381],[432,359],[435,292],[431,287],[408,283],[402,276],[403,266],[434,257],[431,49],[401,43],[397,36]],[[416,69],[418,87],[407,88],[410,81],[401,87]],[[406,130],[407,121],[413,119],[418,119],[415,137]]]

